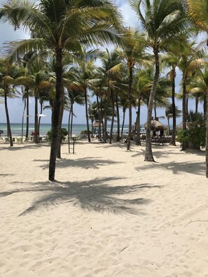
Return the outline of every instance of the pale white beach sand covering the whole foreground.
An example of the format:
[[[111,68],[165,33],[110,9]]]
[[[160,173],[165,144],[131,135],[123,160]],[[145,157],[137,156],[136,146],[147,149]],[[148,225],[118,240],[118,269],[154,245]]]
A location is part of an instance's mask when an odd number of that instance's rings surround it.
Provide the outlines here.
[[[0,276],[208,276],[204,151],[0,145]]]

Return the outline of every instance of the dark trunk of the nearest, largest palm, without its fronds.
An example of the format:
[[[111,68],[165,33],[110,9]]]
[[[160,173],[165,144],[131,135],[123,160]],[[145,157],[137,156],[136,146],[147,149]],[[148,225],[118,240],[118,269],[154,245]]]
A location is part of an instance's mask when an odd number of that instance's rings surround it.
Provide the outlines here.
[[[57,154],[58,123],[60,118],[60,104],[62,94],[62,48],[56,48],[56,94],[52,115],[49,180],[55,180],[55,161]]]

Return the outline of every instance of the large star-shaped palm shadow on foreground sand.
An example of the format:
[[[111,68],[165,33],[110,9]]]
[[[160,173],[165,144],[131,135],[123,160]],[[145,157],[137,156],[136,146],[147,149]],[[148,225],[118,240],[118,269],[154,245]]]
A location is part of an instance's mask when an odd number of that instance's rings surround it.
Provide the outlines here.
[[[13,190],[0,193],[0,197],[20,192],[41,192],[41,196],[36,196],[36,201],[20,213],[27,215],[41,207],[71,203],[73,206],[81,207],[88,211],[99,213],[132,213],[135,215],[145,214],[138,206],[150,203],[150,199],[131,198],[127,199],[128,194],[137,194],[139,190],[145,188],[158,188],[158,185],[108,185],[112,180],[123,180],[123,178],[96,178],[88,182],[42,182],[29,183],[29,188]],[[119,180],[120,182],[120,180]],[[15,182],[16,183],[16,182]],[[44,193],[46,192],[46,193]],[[20,216],[19,215],[19,216]]]

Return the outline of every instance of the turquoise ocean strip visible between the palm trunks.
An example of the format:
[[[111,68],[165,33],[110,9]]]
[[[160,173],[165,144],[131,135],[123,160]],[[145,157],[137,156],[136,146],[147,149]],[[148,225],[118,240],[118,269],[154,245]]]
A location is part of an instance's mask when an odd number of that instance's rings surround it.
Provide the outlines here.
[[[111,125],[107,126],[107,130],[110,131]],[[121,129],[122,126],[120,126]],[[51,125],[46,123],[41,123],[40,134],[42,136],[46,136],[47,132],[50,130]],[[68,130],[67,124],[62,124],[62,128],[66,128]],[[87,126],[85,124],[74,124],[72,128],[72,134],[79,135],[81,131],[86,130]],[[0,130],[4,133],[1,136],[7,136],[7,127],[6,123],[0,123]],[[91,130],[91,125],[90,125]],[[34,124],[29,124],[29,134],[34,131]],[[117,131],[117,125],[114,125],[113,132]],[[11,132],[13,136],[21,136],[22,135],[22,124],[20,123],[11,123]],[[26,124],[23,125],[23,135],[25,136],[26,132]],[[128,132],[128,125],[124,125],[123,132]]]

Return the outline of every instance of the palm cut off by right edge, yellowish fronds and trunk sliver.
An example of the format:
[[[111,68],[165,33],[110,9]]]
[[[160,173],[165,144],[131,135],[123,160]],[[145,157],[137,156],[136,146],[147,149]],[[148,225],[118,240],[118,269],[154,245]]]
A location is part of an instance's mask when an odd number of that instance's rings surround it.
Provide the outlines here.
[[[195,1],[186,0],[188,6],[188,15],[193,20],[200,31],[205,31],[208,35],[208,3],[207,0]],[[208,46],[208,43],[207,43]],[[208,178],[208,97],[206,113],[206,177]]]

